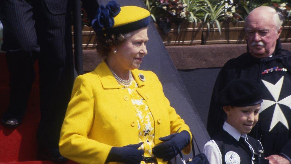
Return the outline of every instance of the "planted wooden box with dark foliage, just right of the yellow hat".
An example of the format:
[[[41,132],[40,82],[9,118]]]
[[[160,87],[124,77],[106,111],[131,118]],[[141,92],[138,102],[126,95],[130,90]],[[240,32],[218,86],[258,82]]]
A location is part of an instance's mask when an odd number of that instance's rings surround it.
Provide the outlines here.
[[[200,45],[202,24],[197,17],[200,0],[144,0],[166,46]],[[201,13],[201,12],[200,12]]]

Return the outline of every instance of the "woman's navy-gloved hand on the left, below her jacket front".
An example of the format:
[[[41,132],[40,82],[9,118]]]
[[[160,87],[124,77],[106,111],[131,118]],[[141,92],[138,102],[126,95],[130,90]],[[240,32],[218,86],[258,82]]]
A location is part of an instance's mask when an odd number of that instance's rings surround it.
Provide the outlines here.
[[[143,160],[143,150],[139,150],[139,148],[143,142],[134,145],[126,145],[123,147],[112,147],[108,157],[106,159],[106,163],[108,162],[122,162],[129,164],[137,164]]]

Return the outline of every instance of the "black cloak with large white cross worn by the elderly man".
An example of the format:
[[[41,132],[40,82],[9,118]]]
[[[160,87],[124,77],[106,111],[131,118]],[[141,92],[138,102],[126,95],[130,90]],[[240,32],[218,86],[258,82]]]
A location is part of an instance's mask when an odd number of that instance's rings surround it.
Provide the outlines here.
[[[291,53],[281,48],[277,40],[272,57],[255,58],[249,52],[230,59],[220,70],[210,102],[207,131],[210,137],[222,129],[226,114],[216,104],[216,98],[233,79],[246,78],[259,83],[264,102],[259,122],[249,134],[259,140],[265,156],[283,153],[291,158]]]

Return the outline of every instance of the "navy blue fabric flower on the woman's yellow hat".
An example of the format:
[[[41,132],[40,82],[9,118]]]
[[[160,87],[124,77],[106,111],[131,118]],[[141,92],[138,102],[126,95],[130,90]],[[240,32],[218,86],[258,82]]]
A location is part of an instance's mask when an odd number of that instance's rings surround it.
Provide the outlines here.
[[[92,27],[95,31],[103,28],[109,29],[114,25],[114,17],[120,12],[120,5],[116,1],[109,1],[106,6],[101,5],[92,20]]]

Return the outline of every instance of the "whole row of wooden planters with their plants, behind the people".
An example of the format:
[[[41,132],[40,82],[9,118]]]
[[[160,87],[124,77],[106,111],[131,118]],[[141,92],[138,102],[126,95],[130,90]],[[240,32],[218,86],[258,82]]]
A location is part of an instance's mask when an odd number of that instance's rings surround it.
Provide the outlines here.
[[[291,42],[288,0],[143,0],[166,46],[245,43],[244,20],[261,5],[279,10],[287,20],[282,42]],[[82,9],[83,49],[95,49],[95,33]]]

